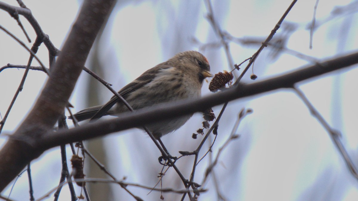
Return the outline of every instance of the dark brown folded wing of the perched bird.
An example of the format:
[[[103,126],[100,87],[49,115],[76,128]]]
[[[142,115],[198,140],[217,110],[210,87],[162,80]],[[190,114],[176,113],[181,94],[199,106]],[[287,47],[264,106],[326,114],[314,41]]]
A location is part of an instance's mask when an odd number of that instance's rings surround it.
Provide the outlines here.
[[[141,74],[137,79],[135,79],[133,82],[123,87],[118,93],[125,99],[127,95],[129,95],[131,92],[134,92],[135,90],[150,83],[155,78],[159,70],[167,69],[167,68],[170,68],[170,66],[161,63],[147,70],[146,72]],[[102,106],[102,108],[91,118],[90,121],[96,121],[98,118],[101,118],[102,116],[106,115],[108,110],[110,110],[118,101],[120,101],[118,97],[113,95],[112,98]]]

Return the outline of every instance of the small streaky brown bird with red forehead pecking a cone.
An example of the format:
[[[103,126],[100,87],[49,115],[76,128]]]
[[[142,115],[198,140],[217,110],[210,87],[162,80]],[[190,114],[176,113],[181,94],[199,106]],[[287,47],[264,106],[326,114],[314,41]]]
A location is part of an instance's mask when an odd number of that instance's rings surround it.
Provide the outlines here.
[[[199,52],[186,51],[147,70],[118,93],[136,110],[159,103],[200,98],[203,80],[207,77],[213,77],[207,58]],[[124,103],[113,96],[106,104],[83,109],[73,116],[83,121],[105,115],[117,116],[128,111]],[[183,126],[192,115],[145,126],[159,139]]]

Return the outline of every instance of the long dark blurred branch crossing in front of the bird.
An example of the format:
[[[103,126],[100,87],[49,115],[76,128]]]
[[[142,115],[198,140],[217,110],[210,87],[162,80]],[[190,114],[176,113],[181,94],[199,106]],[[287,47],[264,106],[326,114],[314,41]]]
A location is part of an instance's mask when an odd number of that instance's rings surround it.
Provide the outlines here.
[[[99,121],[69,130],[50,132],[43,135],[36,142],[37,144],[33,144],[33,146],[48,149],[51,147],[59,146],[59,144],[62,143],[77,142],[80,140],[99,137],[108,133],[122,131],[133,127],[140,127],[143,124],[160,121],[167,118],[200,112],[206,108],[217,106],[234,99],[269,92],[280,88],[292,88],[293,85],[297,82],[317,77],[334,70],[344,69],[357,63],[358,52],[332,60],[327,60],[323,63],[315,64],[260,82],[238,85],[235,88],[209,95],[208,97],[204,97],[198,100],[162,104],[156,107],[140,109],[132,113],[124,113],[121,114],[121,116],[118,118],[110,119],[108,121]]]

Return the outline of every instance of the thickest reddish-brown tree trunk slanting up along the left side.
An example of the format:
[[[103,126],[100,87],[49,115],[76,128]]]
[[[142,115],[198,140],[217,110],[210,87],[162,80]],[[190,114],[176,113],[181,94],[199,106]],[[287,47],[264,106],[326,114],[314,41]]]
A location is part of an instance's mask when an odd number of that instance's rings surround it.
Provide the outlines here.
[[[0,151],[3,164],[0,166],[0,191],[27,163],[44,151],[32,145],[52,129],[63,113],[93,41],[113,3],[113,0],[84,1],[34,108]]]

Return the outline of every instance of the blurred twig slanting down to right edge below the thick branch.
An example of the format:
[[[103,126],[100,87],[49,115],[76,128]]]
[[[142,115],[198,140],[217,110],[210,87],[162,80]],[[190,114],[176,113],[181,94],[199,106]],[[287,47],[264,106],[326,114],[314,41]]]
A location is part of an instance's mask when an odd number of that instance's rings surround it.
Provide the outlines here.
[[[341,154],[343,160],[347,164],[349,171],[352,175],[358,179],[357,168],[355,167],[353,161],[350,159],[347,150],[345,149],[343,143],[340,141],[340,132],[331,128],[325,119],[321,116],[321,114],[315,109],[315,107],[309,102],[305,94],[297,87],[293,87],[296,94],[302,99],[305,103],[309,111],[311,112],[312,116],[314,116],[317,121],[323,126],[323,128],[328,132],[329,136],[331,137],[333,143],[337,147],[339,153]]]

